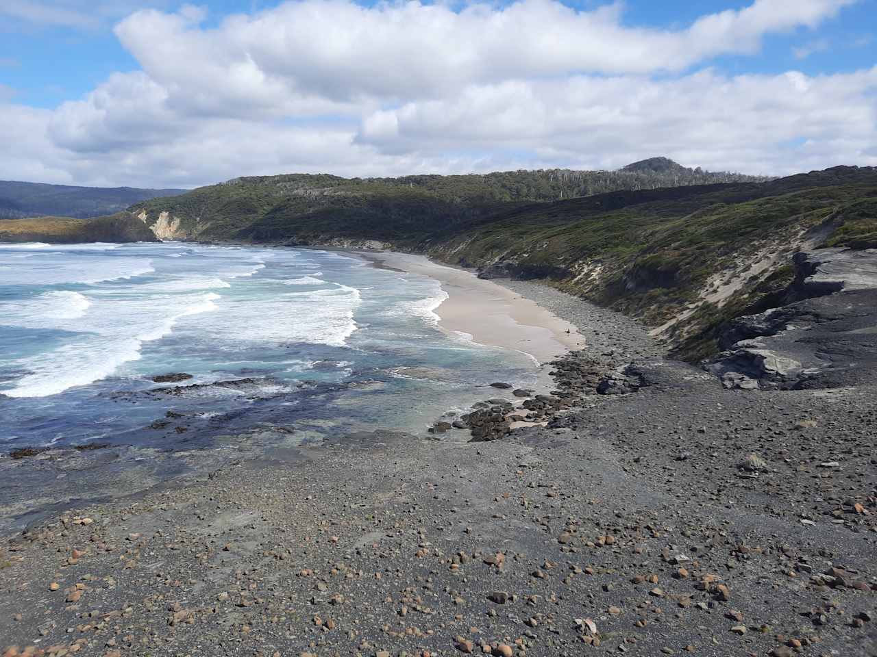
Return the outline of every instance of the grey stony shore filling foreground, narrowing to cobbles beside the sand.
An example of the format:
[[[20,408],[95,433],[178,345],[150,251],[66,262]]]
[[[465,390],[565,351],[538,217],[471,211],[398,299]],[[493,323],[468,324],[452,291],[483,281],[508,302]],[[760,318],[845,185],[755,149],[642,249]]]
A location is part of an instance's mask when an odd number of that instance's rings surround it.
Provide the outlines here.
[[[877,654],[873,378],[729,390],[508,285],[588,346],[486,393],[496,440],[267,448],[54,514],[0,547],[0,654]]]

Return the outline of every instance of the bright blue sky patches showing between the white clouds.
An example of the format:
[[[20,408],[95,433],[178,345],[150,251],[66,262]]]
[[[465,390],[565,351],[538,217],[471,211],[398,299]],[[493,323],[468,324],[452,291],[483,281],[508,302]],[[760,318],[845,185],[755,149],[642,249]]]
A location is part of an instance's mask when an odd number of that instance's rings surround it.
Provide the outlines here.
[[[143,6],[178,9],[175,2],[143,3]],[[253,13],[278,2],[258,0],[214,0],[194,3],[209,11],[208,25],[230,14]],[[373,4],[373,3],[364,3]],[[601,3],[566,3],[589,8]],[[749,3],[701,0],[698,3],[628,0],[625,22],[629,25],[678,28],[698,17],[739,9]],[[83,3],[84,5],[84,3]],[[0,10],[2,11],[2,10]],[[112,33],[114,14],[93,27],[53,26],[36,21],[4,21],[0,42],[0,82],[15,90],[19,102],[51,108],[88,93],[115,71],[138,68],[137,60],[125,51]],[[806,54],[805,54],[806,53]],[[877,62],[877,4],[860,2],[846,8],[838,18],[817,30],[801,27],[788,34],[765,39],[754,54],[717,57],[709,64],[728,73],[780,73],[795,69],[807,74],[826,74],[871,67]]]

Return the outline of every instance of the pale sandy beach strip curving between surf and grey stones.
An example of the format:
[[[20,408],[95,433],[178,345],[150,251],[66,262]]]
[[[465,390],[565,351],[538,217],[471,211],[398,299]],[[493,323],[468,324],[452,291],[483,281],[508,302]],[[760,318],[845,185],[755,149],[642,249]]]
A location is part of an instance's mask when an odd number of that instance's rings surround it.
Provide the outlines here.
[[[538,364],[585,346],[574,324],[508,287],[479,279],[474,272],[408,253],[358,255],[375,265],[438,280],[448,296],[434,312],[441,318],[439,327],[450,333],[475,343],[522,351]]]

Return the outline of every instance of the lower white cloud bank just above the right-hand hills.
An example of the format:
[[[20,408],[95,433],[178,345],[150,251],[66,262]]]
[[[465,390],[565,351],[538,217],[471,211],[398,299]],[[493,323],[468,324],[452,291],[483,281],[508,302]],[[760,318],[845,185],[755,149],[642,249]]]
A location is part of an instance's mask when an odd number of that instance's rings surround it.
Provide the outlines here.
[[[364,118],[358,140],[388,153],[500,146],[606,167],[660,153],[714,169],[781,173],[802,166],[788,151],[795,140],[821,145],[843,135],[862,150],[846,147],[837,157],[861,162],[877,138],[874,92],[877,67],[821,77],[704,71],[661,81],[508,81],[376,112]],[[831,152],[810,150],[832,163]]]

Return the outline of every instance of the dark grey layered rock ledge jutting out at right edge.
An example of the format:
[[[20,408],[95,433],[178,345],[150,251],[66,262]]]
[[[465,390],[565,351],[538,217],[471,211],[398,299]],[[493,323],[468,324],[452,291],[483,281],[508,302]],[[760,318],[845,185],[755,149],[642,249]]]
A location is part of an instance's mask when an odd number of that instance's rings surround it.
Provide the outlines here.
[[[738,317],[704,364],[725,387],[831,388],[877,370],[877,250],[795,255],[787,304]]]

